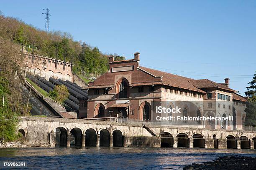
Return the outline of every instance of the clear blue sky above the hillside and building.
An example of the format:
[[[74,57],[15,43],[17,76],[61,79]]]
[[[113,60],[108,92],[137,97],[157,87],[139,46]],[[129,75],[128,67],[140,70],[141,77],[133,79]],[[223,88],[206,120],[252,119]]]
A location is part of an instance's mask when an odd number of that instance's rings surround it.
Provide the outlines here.
[[[194,79],[224,82],[243,92],[256,71],[256,1],[99,0],[4,1],[6,16],[61,30],[103,53],[133,58],[142,66]]]

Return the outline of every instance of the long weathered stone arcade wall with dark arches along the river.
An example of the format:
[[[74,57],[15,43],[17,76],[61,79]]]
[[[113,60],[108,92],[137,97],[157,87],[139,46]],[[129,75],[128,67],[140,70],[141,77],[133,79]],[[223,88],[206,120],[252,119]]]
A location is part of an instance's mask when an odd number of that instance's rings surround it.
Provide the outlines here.
[[[120,124],[100,120],[20,117],[25,144],[256,149],[256,132]]]

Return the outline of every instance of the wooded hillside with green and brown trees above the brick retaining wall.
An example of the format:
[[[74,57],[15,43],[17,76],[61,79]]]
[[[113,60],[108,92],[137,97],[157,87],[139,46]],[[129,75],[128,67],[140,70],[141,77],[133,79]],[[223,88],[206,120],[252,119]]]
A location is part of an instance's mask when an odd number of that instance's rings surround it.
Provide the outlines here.
[[[15,44],[23,46],[25,49],[38,55],[45,55],[71,62],[73,56],[73,72],[81,74],[84,63],[84,70],[87,75],[99,76],[108,70],[108,57],[100,52],[97,47],[86,45],[85,55],[82,52],[82,41],[74,41],[72,35],[67,32],[52,31],[48,34],[44,30],[28,25],[22,20],[5,17],[0,11],[0,38],[8,39]],[[83,57],[84,56],[84,57]],[[84,62],[83,62],[84,60]]]

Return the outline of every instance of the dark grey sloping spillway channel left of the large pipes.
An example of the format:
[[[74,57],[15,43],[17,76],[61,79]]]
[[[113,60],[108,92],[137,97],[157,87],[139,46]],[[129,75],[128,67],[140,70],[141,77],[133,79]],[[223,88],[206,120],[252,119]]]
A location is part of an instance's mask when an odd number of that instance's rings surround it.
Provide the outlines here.
[[[23,100],[28,101],[31,104],[31,110],[30,113],[31,115],[46,115],[46,116],[55,116],[54,113],[48,109],[31,91],[29,100],[29,90],[25,87],[22,86],[22,92],[23,92]]]

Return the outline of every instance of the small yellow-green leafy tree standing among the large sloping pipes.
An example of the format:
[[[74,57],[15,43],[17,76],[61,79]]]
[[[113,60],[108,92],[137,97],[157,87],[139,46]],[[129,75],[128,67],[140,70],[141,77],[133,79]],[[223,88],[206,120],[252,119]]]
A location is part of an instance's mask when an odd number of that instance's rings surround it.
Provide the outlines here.
[[[63,104],[69,98],[69,90],[65,85],[55,85],[54,90],[49,92],[49,96]]]

